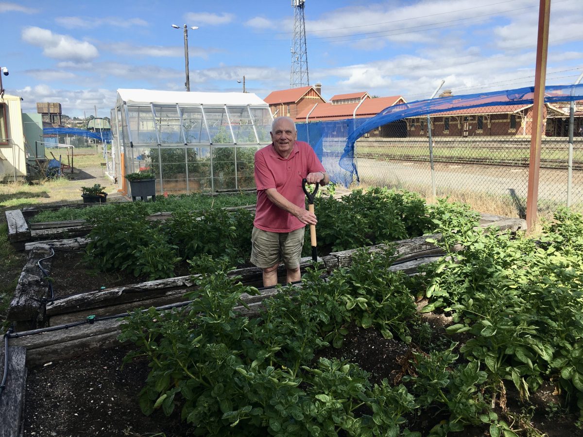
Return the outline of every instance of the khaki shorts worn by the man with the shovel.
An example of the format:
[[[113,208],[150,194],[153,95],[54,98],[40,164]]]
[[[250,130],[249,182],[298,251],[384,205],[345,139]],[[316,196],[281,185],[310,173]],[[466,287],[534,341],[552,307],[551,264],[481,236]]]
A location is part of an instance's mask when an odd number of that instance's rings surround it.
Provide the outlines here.
[[[299,228],[291,232],[268,232],[253,227],[251,262],[260,269],[266,269],[279,264],[282,259],[287,269],[296,269],[300,266],[304,230],[305,228]]]

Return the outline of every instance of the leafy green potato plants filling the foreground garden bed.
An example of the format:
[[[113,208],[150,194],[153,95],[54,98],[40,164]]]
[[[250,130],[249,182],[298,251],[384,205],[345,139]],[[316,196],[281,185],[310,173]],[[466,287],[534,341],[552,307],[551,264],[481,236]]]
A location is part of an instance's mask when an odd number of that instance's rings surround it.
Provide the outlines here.
[[[137,347],[127,360],[145,355],[152,368],[142,409],[177,409],[195,435],[411,436],[420,435],[416,418],[430,415],[429,435],[477,426],[511,437],[512,413],[494,411],[505,383],[526,397],[550,381],[581,407],[583,218],[563,211],[556,219],[532,241],[445,213],[433,218],[444,235],[437,244],[462,242],[462,253],[408,277],[388,270],[390,249],[359,250],[350,269],[311,270],[255,318],[233,309],[257,289],[228,277],[228,263],[197,256],[191,304],[132,313],[122,328],[120,339]],[[424,311],[454,316],[447,332],[466,337],[461,348],[422,323],[415,295],[430,298]],[[322,358],[352,325],[410,345],[400,383],[371,383],[359,365]]]

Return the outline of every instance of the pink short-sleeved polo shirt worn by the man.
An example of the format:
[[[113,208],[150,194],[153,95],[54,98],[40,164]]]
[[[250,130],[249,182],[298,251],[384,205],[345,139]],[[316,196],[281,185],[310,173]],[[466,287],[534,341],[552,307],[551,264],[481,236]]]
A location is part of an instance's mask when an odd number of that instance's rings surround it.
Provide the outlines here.
[[[269,200],[268,188],[275,188],[294,205],[305,208],[305,194],[301,181],[308,173],[325,171],[314,149],[303,141],[296,141],[290,156],[282,158],[271,145],[255,153],[255,185],[257,210],[255,227],[269,232],[291,232],[304,227],[296,216],[274,205]]]

